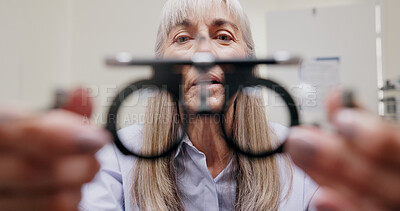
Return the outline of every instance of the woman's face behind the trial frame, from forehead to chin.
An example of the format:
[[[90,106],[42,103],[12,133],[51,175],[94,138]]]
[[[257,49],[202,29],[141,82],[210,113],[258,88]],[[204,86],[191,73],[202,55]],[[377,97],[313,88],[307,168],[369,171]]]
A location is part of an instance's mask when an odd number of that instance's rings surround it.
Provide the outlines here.
[[[163,48],[164,58],[191,59],[197,52],[212,53],[217,58],[240,58],[248,55],[247,45],[241,29],[224,8],[208,11],[205,17],[189,15],[182,23],[172,28]],[[184,100],[189,112],[200,105],[199,73],[193,66],[182,70]],[[207,103],[212,110],[221,108],[224,102],[224,72],[214,66],[205,75],[213,83],[206,85],[209,95]]]

